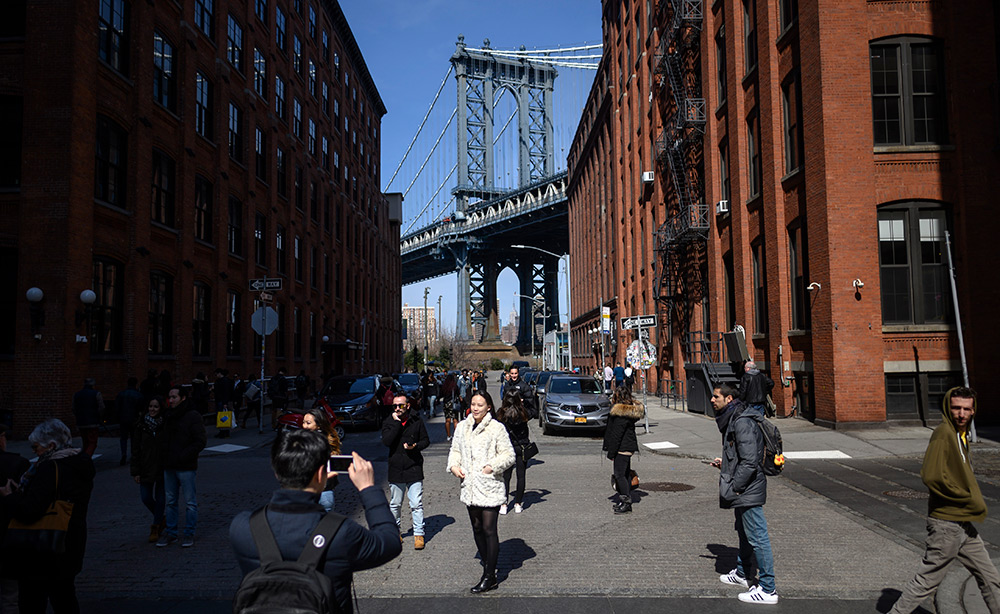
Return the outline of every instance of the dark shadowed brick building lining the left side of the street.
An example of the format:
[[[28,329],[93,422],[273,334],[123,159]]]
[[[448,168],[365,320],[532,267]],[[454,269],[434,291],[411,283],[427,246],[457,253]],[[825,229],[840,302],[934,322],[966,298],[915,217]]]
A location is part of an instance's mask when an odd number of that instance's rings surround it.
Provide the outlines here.
[[[18,431],[85,376],[400,360],[385,107],[336,1],[6,2],[0,392]],[[37,288],[26,300],[28,290]],[[81,300],[93,298],[92,304]]]

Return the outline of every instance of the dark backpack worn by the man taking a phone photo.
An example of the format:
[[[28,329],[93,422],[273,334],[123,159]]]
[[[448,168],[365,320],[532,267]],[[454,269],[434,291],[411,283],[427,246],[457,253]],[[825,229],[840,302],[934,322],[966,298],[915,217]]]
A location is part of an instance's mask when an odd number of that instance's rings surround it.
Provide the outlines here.
[[[248,573],[233,598],[233,614],[336,613],[333,583],[321,571],[326,549],[346,516],[323,516],[296,561],[281,557],[267,524],[267,506],[250,515],[250,534],[260,555],[260,567]]]

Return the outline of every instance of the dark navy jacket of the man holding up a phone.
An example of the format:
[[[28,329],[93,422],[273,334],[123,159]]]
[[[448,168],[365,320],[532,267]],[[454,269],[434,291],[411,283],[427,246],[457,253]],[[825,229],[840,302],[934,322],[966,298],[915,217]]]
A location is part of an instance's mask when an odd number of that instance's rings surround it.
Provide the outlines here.
[[[350,614],[353,572],[378,567],[399,556],[399,529],[385,495],[375,486],[362,490],[368,527],[350,518],[344,521],[326,550],[323,573],[332,580],[340,612]],[[278,490],[271,496],[267,523],[285,560],[295,560],[323,517],[319,495],[304,490]],[[250,512],[240,512],[229,525],[229,543],[243,575],[260,567],[257,546],[250,535]]]

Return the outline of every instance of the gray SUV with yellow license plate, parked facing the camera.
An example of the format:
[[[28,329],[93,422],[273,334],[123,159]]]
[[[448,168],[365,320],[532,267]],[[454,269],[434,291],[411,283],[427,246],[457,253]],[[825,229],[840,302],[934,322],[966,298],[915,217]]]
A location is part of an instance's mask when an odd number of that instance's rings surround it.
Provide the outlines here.
[[[603,429],[610,414],[611,400],[594,378],[555,374],[549,378],[538,425],[546,435],[557,428]]]

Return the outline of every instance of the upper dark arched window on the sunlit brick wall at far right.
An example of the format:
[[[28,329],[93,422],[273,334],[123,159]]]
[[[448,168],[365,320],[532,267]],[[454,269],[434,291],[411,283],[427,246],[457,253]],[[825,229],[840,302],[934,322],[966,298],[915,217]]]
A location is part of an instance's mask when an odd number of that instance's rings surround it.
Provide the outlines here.
[[[924,38],[872,43],[875,145],[948,142],[941,45]]]

